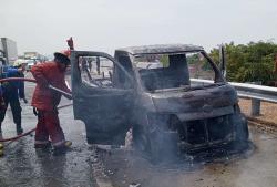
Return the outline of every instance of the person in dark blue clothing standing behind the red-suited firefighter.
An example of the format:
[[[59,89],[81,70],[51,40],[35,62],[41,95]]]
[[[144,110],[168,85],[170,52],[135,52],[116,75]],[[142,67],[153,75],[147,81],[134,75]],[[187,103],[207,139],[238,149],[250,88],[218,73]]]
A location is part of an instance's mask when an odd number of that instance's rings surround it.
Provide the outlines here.
[[[4,77],[22,77],[24,76],[23,72],[25,70],[25,63],[23,61],[16,61],[13,64],[14,67],[6,67]],[[24,103],[28,103],[24,95],[24,83],[20,81],[14,82],[4,82],[2,83],[2,97],[6,104],[6,107],[0,110],[0,133],[1,124],[4,120],[6,111],[8,105],[10,104],[13,122],[17,125],[17,134],[20,135],[23,133],[23,128],[21,126],[21,106],[19,98],[23,100]]]

